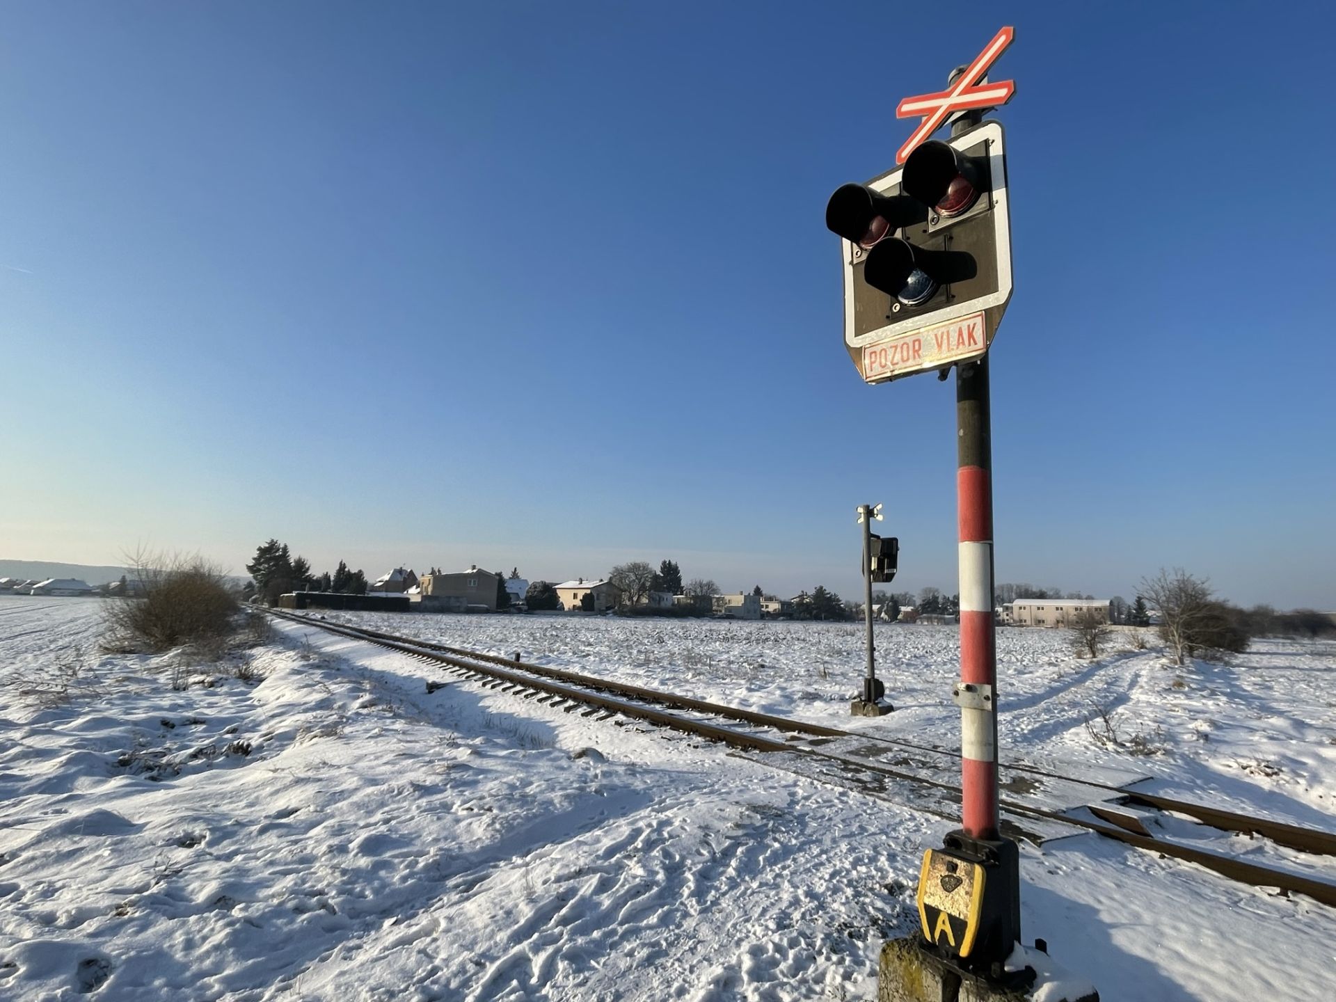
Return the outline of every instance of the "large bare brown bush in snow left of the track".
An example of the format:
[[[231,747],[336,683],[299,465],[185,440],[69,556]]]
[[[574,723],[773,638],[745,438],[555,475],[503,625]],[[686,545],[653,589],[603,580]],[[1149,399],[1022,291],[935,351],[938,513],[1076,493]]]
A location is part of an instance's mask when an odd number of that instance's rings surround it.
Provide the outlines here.
[[[214,645],[238,628],[236,599],[215,565],[200,557],[143,553],[135,556],[134,565],[144,585],[143,597],[107,600],[111,645],[150,652],[182,644]]]

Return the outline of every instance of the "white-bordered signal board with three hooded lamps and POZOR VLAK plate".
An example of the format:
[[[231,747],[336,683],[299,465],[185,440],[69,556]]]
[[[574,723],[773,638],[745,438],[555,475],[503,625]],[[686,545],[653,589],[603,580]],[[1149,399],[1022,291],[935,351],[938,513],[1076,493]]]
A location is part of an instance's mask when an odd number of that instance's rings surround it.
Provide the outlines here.
[[[982,357],[1011,298],[1002,126],[930,140],[903,167],[831,196],[844,347],[867,382]]]

